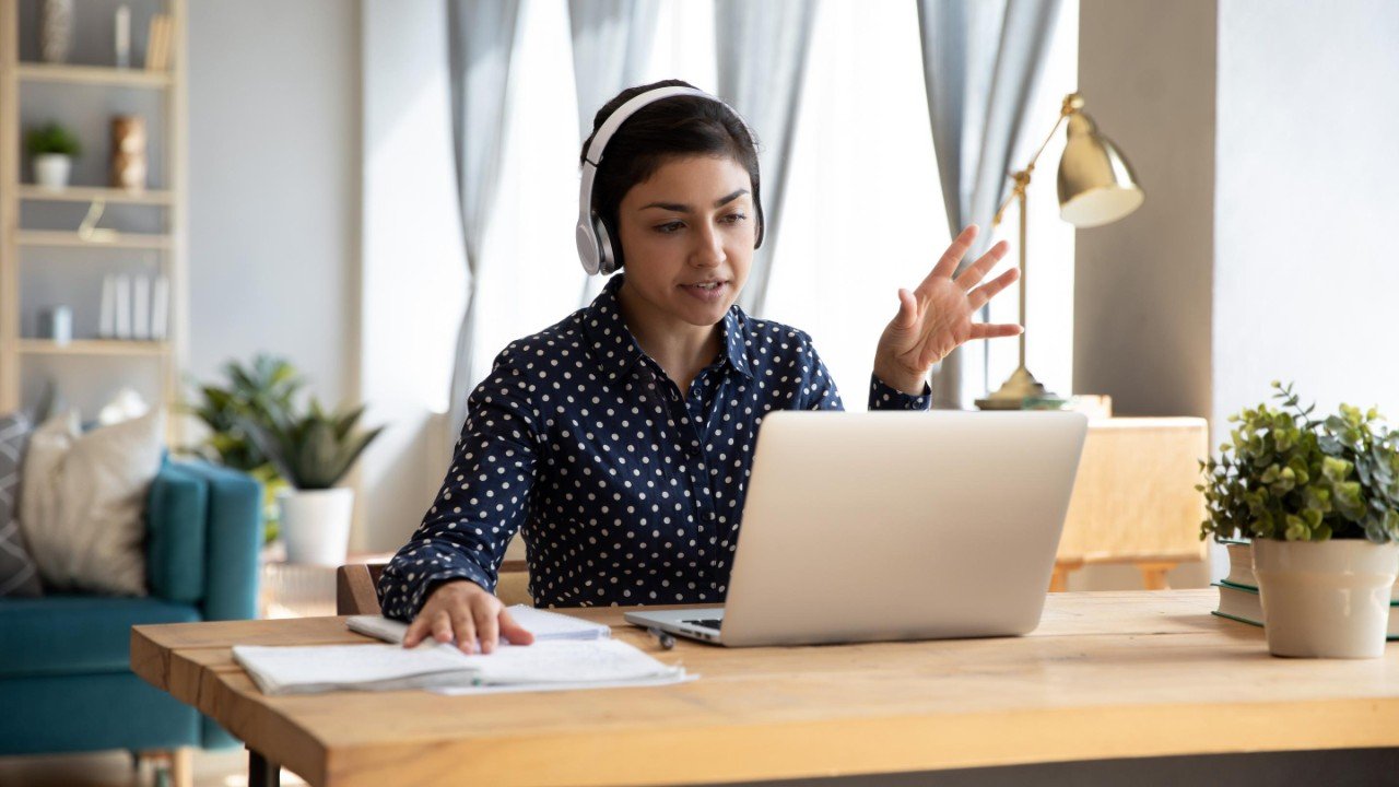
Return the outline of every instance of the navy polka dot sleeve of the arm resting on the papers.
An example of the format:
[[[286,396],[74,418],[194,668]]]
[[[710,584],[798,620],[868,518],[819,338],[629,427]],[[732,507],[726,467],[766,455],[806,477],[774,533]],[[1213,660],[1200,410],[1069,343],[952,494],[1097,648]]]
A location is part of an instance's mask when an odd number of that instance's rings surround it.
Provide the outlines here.
[[[442,489],[379,577],[386,618],[411,620],[431,590],[470,580],[495,592],[505,549],[527,517],[539,455],[529,382],[506,347],[467,401]]]

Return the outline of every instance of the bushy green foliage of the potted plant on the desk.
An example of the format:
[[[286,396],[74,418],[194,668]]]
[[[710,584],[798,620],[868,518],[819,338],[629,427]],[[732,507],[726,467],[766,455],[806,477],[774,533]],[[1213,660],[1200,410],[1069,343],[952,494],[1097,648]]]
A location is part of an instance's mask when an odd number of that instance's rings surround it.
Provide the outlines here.
[[[1312,420],[1291,384],[1273,388],[1281,406],[1230,416],[1230,443],[1200,462],[1200,538],[1399,541],[1399,433],[1374,408]]]

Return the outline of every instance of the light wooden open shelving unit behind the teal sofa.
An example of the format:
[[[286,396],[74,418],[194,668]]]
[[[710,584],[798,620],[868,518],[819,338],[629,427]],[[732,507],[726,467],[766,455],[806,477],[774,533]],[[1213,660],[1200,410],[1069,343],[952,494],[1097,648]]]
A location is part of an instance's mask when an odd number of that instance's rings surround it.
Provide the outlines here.
[[[84,364],[91,364],[94,357],[112,358],[106,364],[118,364],[115,368],[122,370],[120,374],[129,377],[151,374],[150,364],[154,360],[159,379],[151,388],[159,391],[161,399],[154,403],[168,406],[178,401],[179,374],[187,353],[189,319],[185,39],[187,13],[186,0],[162,0],[144,8],[169,14],[173,21],[171,67],[162,71],[147,71],[140,67],[116,69],[21,60],[20,36],[34,34],[28,25],[25,25],[27,29],[20,29],[20,0],[0,0],[0,413],[15,410],[28,403],[21,401],[24,391],[32,388],[24,384],[27,372],[43,370],[45,374],[53,374],[62,379],[63,370],[83,368]],[[80,25],[102,24],[102,20],[90,20],[84,15],[95,13],[99,11],[85,7],[83,3],[74,4],[74,14]],[[133,24],[133,34],[144,41],[141,27]],[[133,52],[133,64],[139,66],[141,64],[141,57],[137,56],[140,50],[136,46],[133,49],[136,50]],[[29,123],[39,120],[39,118],[31,118],[25,113],[22,97],[34,95],[31,91],[71,91],[73,85],[83,88],[71,94],[74,102],[102,101],[104,108],[111,109],[113,115],[120,113],[123,106],[136,101],[144,101],[136,106],[148,108],[151,99],[140,97],[150,97],[154,91],[159,101],[159,111],[154,115],[147,112],[143,115],[145,115],[150,127],[159,129],[159,133],[152,136],[152,140],[159,140],[159,144],[152,141],[147,150],[152,172],[158,169],[164,181],[151,185],[159,188],[133,193],[95,183],[80,183],[62,190],[50,190],[21,182],[21,136]],[[92,98],[94,88],[99,98]],[[67,94],[57,95],[63,95],[63,101],[67,101]],[[74,106],[91,109],[91,106],[78,106],[77,104]],[[55,119],[66,120],[62,112]],[[94,140],[84,141],[92,143]],[[99,146],[87,144],[85,147]],[[155,162],[159,162],[158,168],[154,167]],[[99,200],[108,206],[134,206],[130,210],[161,211],[161,231],[126,231],[115,237],[101,232],[84,239],[78,235],[76,225],[71,230],[53,228],[52,225],[43,228],[21,225],[21,204],[39,206],[34,210],[57,211],[62,203],[76,207]],[[42,207],[42,203],[48,203],[50,207]],[[21,330],[21,315],[27,314],[22,308],[27,305],[22,302],[24,276],[38,270],[34,262],[25,267],[25,255],[38,253],[36,249],[48,249],[43,251],[45,265],[50,259],[71,258],[81,263],[81,270],[91,270],[91,266],[116,265],[123,259],[130,260],[132,251],[154,255],[148,259],[152,260],[152,265],[158,265],[159,272],[169,280],[169,337],[157,342],[94,339],[84,336],[78,329],[73,342],[57,344],[49,339],[24,335]],[[55,255],[59,256],[55,258]],[[55,269],[48,270],[50,276],[55,274]],[[83,302],[92,301],[91,293],[74,293],[73,298]],[[41,358],[45,358],[43,365],[31,368],[31,361],[38,363]],[[126,363],[133,365],[123,367],[122,364]],[[112,391],[97,394],[109,396],[116,392],[120,384],[120,381],[113,381]],[[169,419],[168,422],[172,440],[180,437],[178,434],[180,420]]]

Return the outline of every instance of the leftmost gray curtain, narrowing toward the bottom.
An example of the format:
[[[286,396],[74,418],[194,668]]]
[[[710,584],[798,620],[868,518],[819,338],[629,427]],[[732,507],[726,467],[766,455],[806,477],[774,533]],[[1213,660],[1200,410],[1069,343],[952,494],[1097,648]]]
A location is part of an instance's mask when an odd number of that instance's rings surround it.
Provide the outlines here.
[[[466,419],[471,392],[471,347],[476,343],[477,281],[485,227],[501,179],[508,81],[515,34],[516,0],[449,0],[448,57],[452,81],[452,150],[456,154],[456,192],[462,206],[466,246],[466,311],[456,335],[456,364],[448,412],[450,440]]]

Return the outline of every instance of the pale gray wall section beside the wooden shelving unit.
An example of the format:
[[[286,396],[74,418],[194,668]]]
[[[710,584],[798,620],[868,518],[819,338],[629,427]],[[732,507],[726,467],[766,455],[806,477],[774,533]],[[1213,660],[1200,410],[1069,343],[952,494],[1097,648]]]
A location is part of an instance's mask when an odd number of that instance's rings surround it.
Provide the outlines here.
[[[287,356],[357,395],[360,4],[189,3],[187,371]]]

